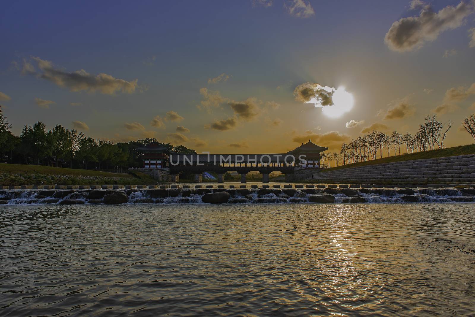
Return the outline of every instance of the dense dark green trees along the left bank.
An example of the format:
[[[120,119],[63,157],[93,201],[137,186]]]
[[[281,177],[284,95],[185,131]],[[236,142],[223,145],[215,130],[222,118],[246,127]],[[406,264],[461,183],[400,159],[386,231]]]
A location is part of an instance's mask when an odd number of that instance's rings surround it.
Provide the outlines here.
[[[157,140],[114,143],[86,137],[82,131],[68,130],[60,124],[47,131],[40,121],[33,126],[25,125],[20,136],[15,136],[0,106],[0,158],[4,163],[119,171],[142,167],[142,154],[135,148],[151,142]],[[160,144],[177,153],[196,153],[182,145]]]

